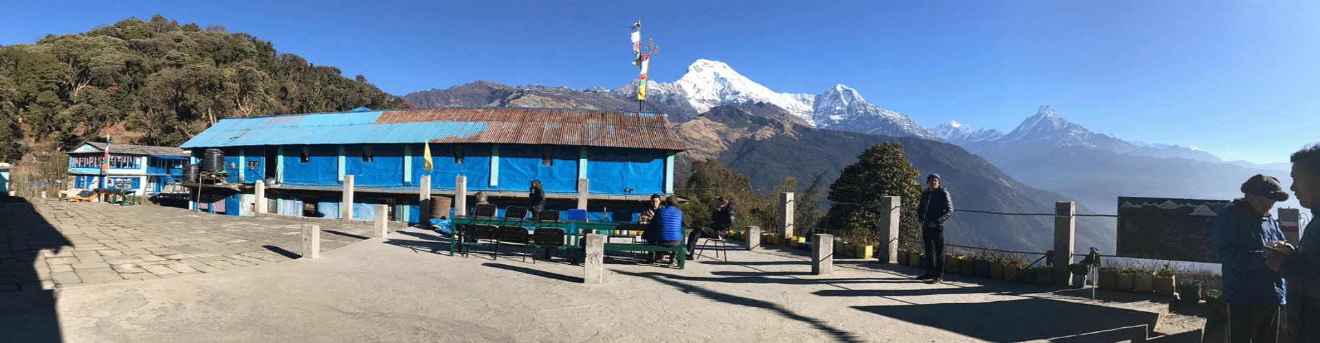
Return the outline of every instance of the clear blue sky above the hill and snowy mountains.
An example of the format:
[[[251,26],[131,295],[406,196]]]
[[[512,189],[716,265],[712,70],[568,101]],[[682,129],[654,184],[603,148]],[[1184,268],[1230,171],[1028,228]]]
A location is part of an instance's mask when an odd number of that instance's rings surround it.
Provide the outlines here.
[[[484,79],[586,88],[723,61],[780,92],[836,83],[919,124],[1011,131],[1041,104],[1125,140],[1283,162],[1320,141],[1315,1],[12,1],[0,45],[161,13],[272,41],[404,95]],[[458,4],[449,4],[458,3]]]

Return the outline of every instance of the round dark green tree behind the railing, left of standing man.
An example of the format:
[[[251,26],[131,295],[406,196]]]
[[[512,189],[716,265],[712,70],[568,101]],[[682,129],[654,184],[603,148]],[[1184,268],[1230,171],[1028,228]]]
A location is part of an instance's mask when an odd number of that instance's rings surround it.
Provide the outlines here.
[[[880,197],[902,197],[899,239],[920,239],[913,210],[921,195],[921,183],[915,179],[920,173],[903,157],[902,144],[873,145],[829,186],[829,199],[836,204],[826,215],[828,228],[843,231],[845,239],[854,241],[879,243],[880,211],[887,210],[880,208]]]

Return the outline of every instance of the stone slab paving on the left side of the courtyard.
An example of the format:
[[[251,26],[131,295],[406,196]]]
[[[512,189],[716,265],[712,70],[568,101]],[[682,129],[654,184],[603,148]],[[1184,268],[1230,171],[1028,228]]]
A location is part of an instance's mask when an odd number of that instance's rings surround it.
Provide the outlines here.
[[[321,249],[366,239],[371,224],[230,216],[152,204],[0,203],[0,292],[215,273],[297,259],[302,224]]]

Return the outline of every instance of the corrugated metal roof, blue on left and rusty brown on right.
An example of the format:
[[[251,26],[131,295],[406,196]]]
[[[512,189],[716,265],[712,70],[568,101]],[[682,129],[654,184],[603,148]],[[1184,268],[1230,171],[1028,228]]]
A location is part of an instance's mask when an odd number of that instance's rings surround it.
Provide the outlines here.
[[[664,115],[558,108],[434,108],[228,117],[181,148],[422,141],[688,149]]]

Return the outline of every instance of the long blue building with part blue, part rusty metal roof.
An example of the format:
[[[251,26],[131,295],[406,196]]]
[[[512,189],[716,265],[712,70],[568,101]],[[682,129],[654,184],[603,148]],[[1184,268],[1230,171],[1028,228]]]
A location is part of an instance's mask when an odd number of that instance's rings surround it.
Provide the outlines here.
[[[432,172],[422,169],[426,144]],[[587,179],[591,216],[640,212],[651,194],[673,193],[673,157],[688,149],[660,113],[554,108],[230,117],[181,148],[194,161],[224,152],[227,178],[202,186],[215,212],[249,215],[252,183],[264,179],[268,212],[338,218],[345,175],[354,175],[355,219],[389,204],[391,218],[407,222],[418,220],[424,174],[434,195],[453,195],[463,175],[469,195],[486,191],[500,208],[525,206],[532,179],[544,183],[546,208],[573,208],[578,179]]]

